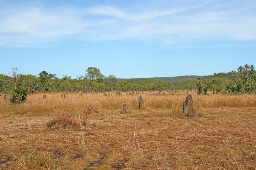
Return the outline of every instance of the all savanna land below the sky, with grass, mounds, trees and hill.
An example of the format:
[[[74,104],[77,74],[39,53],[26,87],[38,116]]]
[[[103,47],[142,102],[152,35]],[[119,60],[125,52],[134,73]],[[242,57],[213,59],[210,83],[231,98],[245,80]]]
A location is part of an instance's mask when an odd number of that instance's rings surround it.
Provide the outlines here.
[[[256,71],[0,74],[0,169],[256,169]]]

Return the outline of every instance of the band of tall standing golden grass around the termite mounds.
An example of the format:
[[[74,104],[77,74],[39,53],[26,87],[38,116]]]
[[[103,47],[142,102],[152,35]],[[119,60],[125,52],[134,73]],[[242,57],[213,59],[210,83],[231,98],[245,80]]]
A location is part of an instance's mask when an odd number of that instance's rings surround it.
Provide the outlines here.
[[[145,109],[171,109],[173,114],[181,114],[183,101],[186,98],[184,92],[166,92],[165,96],[152,96],[154,93],[147,92],[143,96]],[[200,95],[194,91],[189,92],[197,107],[256,107],[255,95]],[[23,114],[23,113],[44,113],[44,112],[82,112],[98,113],[106,110],[119,110],[125,103],[129,111],[138,110],[138,96],[106,96],[103,94],[83,95],[67,94],[66,98],[61,98],[61,94],[35,94],[27,97],[28,101],[9,105],[3,98],[0,99],[0,114]]]

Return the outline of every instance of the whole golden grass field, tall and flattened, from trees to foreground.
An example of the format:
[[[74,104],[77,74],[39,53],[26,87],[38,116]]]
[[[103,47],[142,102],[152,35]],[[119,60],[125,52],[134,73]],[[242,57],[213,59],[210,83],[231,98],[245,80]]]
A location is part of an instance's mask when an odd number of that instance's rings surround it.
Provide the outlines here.
[[[0,169],[256,169],[256,96],[184,93],[0,96]]]

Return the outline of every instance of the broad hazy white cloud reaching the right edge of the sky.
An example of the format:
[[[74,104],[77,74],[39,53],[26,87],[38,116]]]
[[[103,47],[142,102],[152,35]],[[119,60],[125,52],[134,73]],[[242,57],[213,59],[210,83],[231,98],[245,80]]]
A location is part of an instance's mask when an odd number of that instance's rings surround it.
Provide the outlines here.
[[[228,13],[210,12],[181,17],[180,22],[138,23],[105,35],[105,39],[143,39],[172,36],[182,40],[254,40],[256,18],[232,18]]]

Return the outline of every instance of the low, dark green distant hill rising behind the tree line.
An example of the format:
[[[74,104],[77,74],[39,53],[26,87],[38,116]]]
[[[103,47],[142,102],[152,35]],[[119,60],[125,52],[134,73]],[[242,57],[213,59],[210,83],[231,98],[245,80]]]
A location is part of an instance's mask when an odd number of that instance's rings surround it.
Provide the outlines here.
[[[141,79],[147,79],[147,80],[162,80],[162,81],[187,81],[187,80],[196,80],[198,77],[204,77],[200,75],[183,75],[183,76],[177,76],[177,77],[151,77],[151,78],[134,78],[134,79],[117,79],[117,82],[122,81],[129,81],[129,80],[141,80]]]

